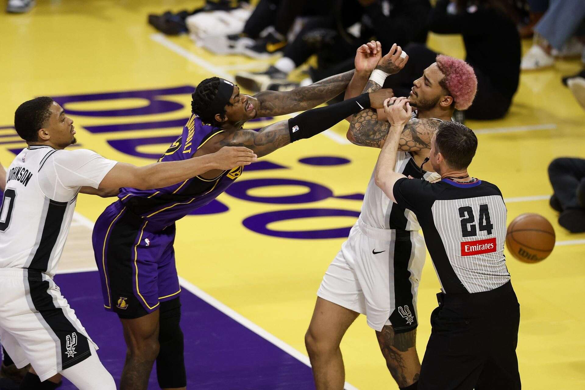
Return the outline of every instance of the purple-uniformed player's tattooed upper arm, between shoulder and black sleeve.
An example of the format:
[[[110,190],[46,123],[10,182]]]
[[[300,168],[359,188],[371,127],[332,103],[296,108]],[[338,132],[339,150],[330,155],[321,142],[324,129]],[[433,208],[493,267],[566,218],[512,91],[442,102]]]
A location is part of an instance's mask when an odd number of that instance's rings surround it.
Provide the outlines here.
[[[239,129],[226,134],[219,147],[245,146],[252,149],[258,157],[266,156],[281,147],[290,144],[288,120],[281,120],[272,125],[263,127],[260,131]]]

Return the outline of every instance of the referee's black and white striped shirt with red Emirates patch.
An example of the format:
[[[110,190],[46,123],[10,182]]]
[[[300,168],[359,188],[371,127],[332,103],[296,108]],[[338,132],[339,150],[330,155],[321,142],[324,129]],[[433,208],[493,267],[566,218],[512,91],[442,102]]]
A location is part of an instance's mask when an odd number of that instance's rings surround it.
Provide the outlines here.
[[[402,178],[393,192],[398,205],[417,216],[443,292],[490,291],[510,280],[504,256],[507,209],[494,184]]]

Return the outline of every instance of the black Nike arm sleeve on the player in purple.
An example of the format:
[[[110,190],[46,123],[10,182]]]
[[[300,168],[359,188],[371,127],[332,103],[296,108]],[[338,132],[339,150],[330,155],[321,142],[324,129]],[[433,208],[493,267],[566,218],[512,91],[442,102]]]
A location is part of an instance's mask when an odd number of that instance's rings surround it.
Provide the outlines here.
[[[291,142],[324,132],[350,115],[370,107],[370,94],[362,94],[326,107],[305,111],[288,120]]]

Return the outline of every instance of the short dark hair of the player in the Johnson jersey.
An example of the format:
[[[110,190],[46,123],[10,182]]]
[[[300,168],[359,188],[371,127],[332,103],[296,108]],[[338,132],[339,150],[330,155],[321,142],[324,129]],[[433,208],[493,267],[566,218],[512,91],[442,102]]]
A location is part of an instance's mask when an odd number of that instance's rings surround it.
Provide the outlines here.
[[[51,116],[50,106],[53,99],[49,96],[40,96],[22,103],[14,113],[14,129],[27,142],[35,142]]]

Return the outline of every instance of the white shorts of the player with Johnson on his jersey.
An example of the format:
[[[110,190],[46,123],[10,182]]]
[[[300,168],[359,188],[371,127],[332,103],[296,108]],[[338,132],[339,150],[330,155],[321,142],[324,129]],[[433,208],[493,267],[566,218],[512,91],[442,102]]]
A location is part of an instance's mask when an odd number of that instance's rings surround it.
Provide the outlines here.
[[[0,343],[16,367],[30,363],[44,381],[97,350],[49,275],[0,268],[0,291]]]

